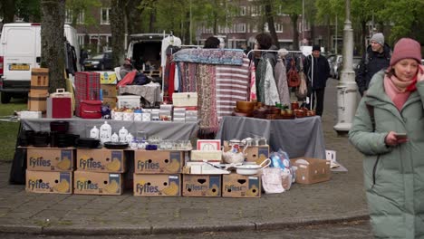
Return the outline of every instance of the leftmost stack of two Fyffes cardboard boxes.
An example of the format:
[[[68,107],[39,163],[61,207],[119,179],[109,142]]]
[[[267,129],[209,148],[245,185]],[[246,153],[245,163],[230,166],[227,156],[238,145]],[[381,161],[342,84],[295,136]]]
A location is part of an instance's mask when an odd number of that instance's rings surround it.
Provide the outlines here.
[[[32,193],[72,194],[74,148],[27,148],[25,190]]]

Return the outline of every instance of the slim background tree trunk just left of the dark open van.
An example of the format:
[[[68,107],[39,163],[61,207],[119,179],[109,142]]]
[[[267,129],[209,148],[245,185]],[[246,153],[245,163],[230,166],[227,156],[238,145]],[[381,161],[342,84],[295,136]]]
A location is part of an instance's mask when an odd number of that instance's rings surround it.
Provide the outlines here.
[[[111,0],[111,48],[112,64],[123,63],[125,42],[125,0]]]

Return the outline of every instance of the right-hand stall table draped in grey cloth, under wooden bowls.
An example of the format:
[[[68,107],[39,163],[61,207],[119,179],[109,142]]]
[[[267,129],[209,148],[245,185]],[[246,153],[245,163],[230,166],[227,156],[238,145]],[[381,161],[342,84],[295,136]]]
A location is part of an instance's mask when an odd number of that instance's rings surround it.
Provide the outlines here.
[[[319,116],[299,119],[255,119],[226,116],[222,119],[217,139],[264,137],[270,150],[283,149],[290,158],[325,158],[323,128]]]

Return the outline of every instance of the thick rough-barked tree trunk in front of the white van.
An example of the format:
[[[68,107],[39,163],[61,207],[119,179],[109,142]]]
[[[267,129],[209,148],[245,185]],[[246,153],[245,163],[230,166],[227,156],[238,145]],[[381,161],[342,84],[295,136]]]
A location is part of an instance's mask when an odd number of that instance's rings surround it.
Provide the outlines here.
[[[63,24],[65,0],[42,0],[42,61],[41,67],[49,69],[49,91],[65,88],[65,44]]]

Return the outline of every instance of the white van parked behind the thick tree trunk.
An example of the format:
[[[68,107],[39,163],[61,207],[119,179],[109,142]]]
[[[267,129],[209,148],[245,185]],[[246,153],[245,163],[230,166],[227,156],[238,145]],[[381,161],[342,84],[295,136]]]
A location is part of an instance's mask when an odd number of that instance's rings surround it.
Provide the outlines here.
[[[76,69],[79,71],[80,47],[76,30],[64,25],[64,36],[74,47]],[[26,96],[30,89],[31,69],[40,67],[41,24],[4,24],[0,37],[0,91],[1,102],[12,97]]]

